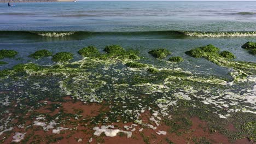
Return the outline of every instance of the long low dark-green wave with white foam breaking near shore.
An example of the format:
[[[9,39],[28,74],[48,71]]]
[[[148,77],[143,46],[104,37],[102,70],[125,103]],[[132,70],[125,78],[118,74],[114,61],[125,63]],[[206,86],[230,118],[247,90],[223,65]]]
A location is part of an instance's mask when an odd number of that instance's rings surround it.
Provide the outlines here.
[[[86,31],[0,31],[0,35],[30,35],[41,37],[82,37],[84,35],[172,35],[173,37],[256,37],[256,31],[249,32],[200,32],[200,31],[141,31],[141,32],[86,32]]]

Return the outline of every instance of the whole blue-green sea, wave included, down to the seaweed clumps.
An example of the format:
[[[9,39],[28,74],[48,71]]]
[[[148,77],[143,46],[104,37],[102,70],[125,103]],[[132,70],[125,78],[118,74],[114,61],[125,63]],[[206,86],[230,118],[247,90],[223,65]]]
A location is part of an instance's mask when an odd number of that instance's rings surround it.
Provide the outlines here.
[[[148,54],[164,47],[172,56],[182,56],[177,64],[185,70],[228,77],[230,72],[206,59],[195,59],[185,51],[213,44],[234,53],[235,61],[256,62],[241,45],[256,41],[256,2],[60,2],[0,3],[0,49],[19,52],[18,58],[5,58],[11,68],[18,63],[52,64],[50,58],[34,60],[27,56],[36,50],[74,53],[94,45],[119,44],[136,49],[144,63],[168,67]],[[197,66],[197,67],[195,67]]]

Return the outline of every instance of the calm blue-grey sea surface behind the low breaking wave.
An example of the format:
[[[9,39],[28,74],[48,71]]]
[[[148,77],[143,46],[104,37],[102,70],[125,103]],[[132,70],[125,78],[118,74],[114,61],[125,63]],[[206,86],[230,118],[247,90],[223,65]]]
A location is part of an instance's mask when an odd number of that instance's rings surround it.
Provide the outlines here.
[[[0,30],[255,31],[256,2],[0,3]]]

